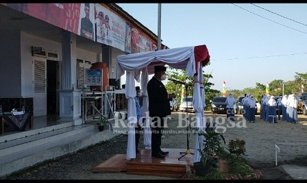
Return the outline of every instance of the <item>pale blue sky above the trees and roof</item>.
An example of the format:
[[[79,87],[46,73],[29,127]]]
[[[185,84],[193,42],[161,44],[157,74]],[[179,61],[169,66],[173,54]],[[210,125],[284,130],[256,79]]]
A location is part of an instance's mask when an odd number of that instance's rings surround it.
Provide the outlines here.
[[[116,4],[158,35],[158,3]],[[306,10],[307,3],[162,3],[161,39],[169,48],[207,45],[204,71],[214,89],[223,81],[226,90],[286,82],[307,72]]]

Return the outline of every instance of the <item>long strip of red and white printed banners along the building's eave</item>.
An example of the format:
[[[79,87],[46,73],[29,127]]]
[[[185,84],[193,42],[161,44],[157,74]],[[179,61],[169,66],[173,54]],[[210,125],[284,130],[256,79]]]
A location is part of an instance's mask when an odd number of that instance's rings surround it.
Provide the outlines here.
[[[139,32],[136,27],[98,3],[0,4],[127,53],[157,50],[156,41],[153,42],[146,34]],[[95,28],[97,28],[97,34]],[[167,49],[167,47],[161,45],[161,49]]]

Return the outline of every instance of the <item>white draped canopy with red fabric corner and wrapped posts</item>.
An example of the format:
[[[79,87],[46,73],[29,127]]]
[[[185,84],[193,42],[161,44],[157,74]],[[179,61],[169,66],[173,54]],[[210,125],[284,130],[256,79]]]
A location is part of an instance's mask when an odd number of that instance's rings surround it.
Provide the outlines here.
[[[205,96],[202,67],[206,66],[209,61],[210,55],[206,45],[163,49],[159,51],[148,51],[117,56],[116,80],[119,80],[119,78],[124,75],[126,71],[125,97],[128,99],[127,123],[129,126],[126,156],[127,160],[136,158],[134,131],[134,123],[136,123],[136,106],[134,97],[136,96],[136,90],[134,80],[139,80],[140,71],[142,72],[140,83],[143,90],[144,115],[146,112],[148,112],[148,95],[146,89],[148,75],[153,74],[154,66],[164,66],[167,64],[175,69],[184,69],[187,76],[193,76],[195,79],[193,88],[193,106],[196,112],[195,116],[197,119],[199,119],[197,120],[196,125],[199,127],[199,130],[204,130],[202,121],[204,119]],[[145,122],[144,143],[146,147],[150,147],[151,132],[149,127],[149,119],[146,119]],[[195,134],[194,162],[197,162],[200,159],[199,152],[196,151],[196,149],[199,149],[199,141],[202,141],[202,139],[199,139],[198,134]]]

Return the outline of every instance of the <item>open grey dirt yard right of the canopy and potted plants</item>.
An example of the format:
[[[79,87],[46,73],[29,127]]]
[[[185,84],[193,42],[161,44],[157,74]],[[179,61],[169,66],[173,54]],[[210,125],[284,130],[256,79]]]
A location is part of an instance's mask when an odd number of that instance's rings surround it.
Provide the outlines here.
[[[299,114],[299,123],[268,123],[256,116],[256,123],[243,122],[242,114],[236,115],[236,125],[223,123],[225,114],[206,113],[214,121],[219,117],[220,126],[226,127],[223,136],[226,143],[231,139],[245,140],[245,158],[254,164],[265,180],[292,179],[282,168],[282,164],[307,166],[307,116]],[[207,119],[208,123],[208,119]],[[278,152],[278,148],[280,151]],[[276,151],[277,164],[276,166]]]

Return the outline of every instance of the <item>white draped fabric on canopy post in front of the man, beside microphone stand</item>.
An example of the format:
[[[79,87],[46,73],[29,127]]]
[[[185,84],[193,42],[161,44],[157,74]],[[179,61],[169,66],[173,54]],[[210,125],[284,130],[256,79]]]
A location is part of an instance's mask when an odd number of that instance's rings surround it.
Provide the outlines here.
[[[195,110],[195,121],[194,127],[197,127],[198,130],[204,130],[204,84],[203,82],[203,72],[201,63],[197,62],[197,68],[199,69],[198,74],[194,76],[194,90],[193,90],[193,107]],[[192,125],[193,127],[193,125]],[[204,136],[199,136],[197,133],[195,136],[195,154],[193,162],[199,162],[201,154],[198,149],[204,148]]]

